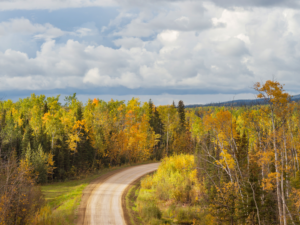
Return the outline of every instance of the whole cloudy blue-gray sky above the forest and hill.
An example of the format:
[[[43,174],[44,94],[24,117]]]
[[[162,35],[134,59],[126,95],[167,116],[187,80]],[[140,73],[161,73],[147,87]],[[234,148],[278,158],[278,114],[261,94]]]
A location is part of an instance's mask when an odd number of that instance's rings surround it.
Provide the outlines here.
[[[0,0],[2,99],[204,104],[299,72],[299,0]]]

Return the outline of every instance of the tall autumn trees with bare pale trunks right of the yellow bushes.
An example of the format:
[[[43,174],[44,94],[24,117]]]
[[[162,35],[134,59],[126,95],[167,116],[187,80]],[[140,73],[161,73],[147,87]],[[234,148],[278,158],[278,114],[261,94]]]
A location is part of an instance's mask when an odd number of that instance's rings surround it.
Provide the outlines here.
[[[278,82],[254,88],[265,105],[193,119],[201,202],[219,224],[299,224],[300,105]]]

